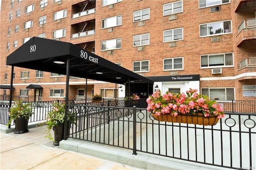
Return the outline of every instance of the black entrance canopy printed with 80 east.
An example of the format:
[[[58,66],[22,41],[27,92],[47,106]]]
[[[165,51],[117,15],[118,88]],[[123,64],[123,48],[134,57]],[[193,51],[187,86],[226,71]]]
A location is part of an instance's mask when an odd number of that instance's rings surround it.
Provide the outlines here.
[[[72,43],[33,37],[11,53],[7,65],[47,71],[66,75],[69,58],[69,75],[111,83],[124,84],[130,81],[154,82],[124,67],[112,63],[98,55]],[[54,63],[62,61],[64,64]]]

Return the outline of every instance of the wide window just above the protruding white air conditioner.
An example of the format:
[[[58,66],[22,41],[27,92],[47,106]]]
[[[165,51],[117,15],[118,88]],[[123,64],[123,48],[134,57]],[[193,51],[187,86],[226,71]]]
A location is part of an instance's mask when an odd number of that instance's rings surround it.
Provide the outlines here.
[[[234,66],[233,53],[201,55],[201,67]]]

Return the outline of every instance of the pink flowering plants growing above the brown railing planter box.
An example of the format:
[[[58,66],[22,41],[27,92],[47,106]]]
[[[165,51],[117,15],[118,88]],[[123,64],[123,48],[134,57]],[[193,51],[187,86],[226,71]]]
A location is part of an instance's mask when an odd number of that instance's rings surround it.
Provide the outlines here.
[[[215,115],[218,119],[224,117],[223,108],[216,101],[210,100],[206,95],[196,93],[198,90],[190,89],[185,93],[173,94],[166,92],[161,95],[160,91],[149,96],[147,99],[149,112],[156,115],[171,114],[176,117],[178,114],[194,115],[203,113],[205,117]]]

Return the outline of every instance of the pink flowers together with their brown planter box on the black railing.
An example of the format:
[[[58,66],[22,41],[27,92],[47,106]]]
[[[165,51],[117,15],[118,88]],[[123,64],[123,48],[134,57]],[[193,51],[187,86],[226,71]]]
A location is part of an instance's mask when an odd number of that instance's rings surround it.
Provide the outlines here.
[[[208,96],[196,92],[196,89],[190,89],[186,94],[167,91],[161,95],[156,91],[147,99],[147,110],[158,121],[216,125],[224,117],[224,109]]]

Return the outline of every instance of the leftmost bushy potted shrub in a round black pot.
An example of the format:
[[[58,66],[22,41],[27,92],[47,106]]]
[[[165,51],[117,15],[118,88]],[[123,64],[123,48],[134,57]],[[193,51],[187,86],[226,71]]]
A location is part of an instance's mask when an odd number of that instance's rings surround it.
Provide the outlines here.
[[[23,99],[16,101],[9,112],[9,121],[6,126],[15,123],[14,133],[28,132],[28,119],[34,114],[31,103],[23,103]]]

